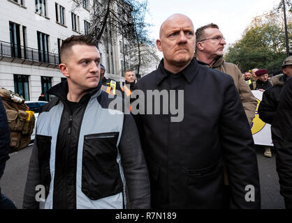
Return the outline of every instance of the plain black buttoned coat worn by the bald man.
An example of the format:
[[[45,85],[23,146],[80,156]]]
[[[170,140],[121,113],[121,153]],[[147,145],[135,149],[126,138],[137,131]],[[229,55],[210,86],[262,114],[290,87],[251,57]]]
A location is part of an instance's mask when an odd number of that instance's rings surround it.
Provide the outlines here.
[[[184,91],[180,122],[171,121],[175,115],[170,110],[154,114],[154,100],[145,104],[146,114],[142,109],[135,115],[149,169],[152,208],[224,208],[223,162],[231,208],[260,208],[254,141],[232,77],[201,66],[196,59],[173,74],[164,69],[162,60],[135,89],[144,92],[145,102],[150,99],[147,90],[164,90],[168,95],[170,90]],[[178,104],[176,99],[175,108]],[[251,202],[246,200],[248,185],[254,188]]]

